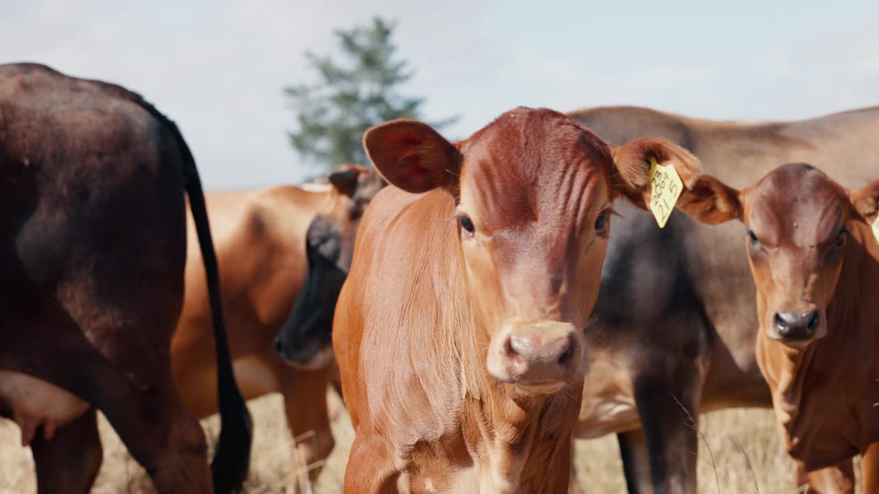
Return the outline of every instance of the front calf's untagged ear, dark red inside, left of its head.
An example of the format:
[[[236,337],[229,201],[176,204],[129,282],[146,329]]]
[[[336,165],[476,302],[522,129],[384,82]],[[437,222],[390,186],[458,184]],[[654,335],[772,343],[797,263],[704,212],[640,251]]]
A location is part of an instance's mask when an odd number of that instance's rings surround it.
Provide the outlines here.
[[[389,184],[409,193],[457,185],[461,154],[425,123],[394,120],[363,134],[363,148]]]

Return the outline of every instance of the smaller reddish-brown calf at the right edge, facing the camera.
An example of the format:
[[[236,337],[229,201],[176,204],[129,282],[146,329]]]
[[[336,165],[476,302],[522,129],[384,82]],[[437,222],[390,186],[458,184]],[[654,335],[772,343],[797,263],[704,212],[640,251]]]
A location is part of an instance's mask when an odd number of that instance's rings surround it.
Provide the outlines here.
[[[742,191],[701,178],[681,203],[701,222],[745,223],[757,361],[812,487],[853,491],[852,457],[862,454],[865,492],[879,491],[879,180],[846,191],[792,163]],[[816,470],[827,467],[847,483],[822,485]]]

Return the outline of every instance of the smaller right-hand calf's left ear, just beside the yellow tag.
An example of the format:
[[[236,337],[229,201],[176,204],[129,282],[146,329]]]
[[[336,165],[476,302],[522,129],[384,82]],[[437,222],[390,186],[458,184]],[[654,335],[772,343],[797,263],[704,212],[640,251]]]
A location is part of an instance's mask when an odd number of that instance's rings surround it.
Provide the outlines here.
[[[702,175],[680,194],[678,208],[694,220],[708,225],[730,220],[745,222],[742,199],[742,192],[710,175]]]

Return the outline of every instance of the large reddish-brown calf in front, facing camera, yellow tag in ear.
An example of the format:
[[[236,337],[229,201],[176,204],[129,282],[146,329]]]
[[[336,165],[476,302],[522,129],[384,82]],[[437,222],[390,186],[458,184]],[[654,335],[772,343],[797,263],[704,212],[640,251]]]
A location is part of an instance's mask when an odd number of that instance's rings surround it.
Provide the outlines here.
[[[333,348],[356,438],[353,492],[566,492],[611,203],[644,205],[648,157],[519,108],[463,142],[398,120],[364,146],[379,193],[339,296]]]

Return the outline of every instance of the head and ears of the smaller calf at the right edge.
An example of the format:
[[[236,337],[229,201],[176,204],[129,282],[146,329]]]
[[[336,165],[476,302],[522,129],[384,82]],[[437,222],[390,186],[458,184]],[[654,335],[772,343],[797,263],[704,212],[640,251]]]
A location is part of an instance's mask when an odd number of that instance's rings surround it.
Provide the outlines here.
[[[824,172],[790,163],[743,191],[701,177],[681,207],[702,222],[745,223],[760,333],[802,349],[827,335],[849,229],[875,221],[877,198],[879,181],[847,192]]]

